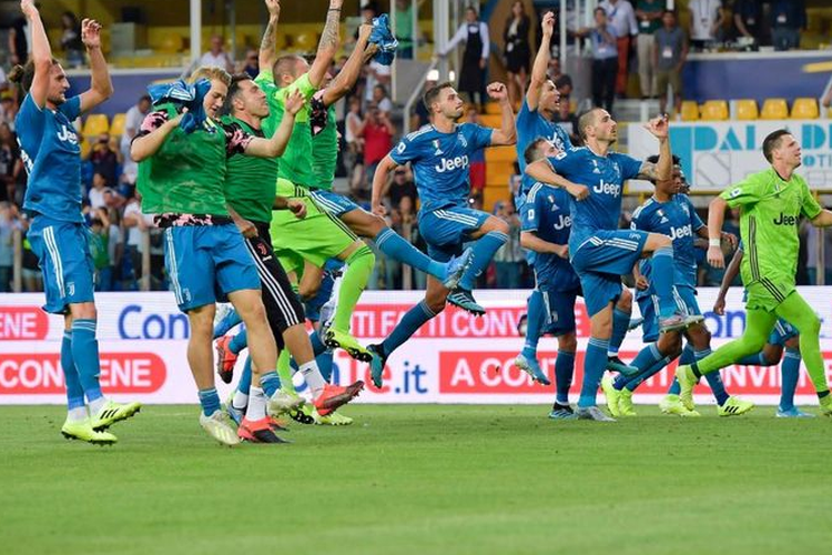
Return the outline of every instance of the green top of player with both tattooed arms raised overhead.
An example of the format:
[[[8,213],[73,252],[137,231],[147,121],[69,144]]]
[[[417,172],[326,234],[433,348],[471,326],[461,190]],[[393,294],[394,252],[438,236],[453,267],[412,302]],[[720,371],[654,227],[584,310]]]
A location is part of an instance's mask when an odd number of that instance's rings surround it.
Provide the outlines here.
[[[283,121],[286,94],[295,90],[301,91],[306,102],[295,115],[295,127],[286,150],[281,157],[278,175],[297,185],[317,186],[312,171],[312,128],[310,127],[308,103],[315,92],[315,87],[310,82],[310,74],[304,73],[294,83],[283,89],[274,84],[274,74],[268,70],[261,71],[254,82],[263,89],[268,99],[268,118],[263,120],[263,131],[266,137],[272,137]]]

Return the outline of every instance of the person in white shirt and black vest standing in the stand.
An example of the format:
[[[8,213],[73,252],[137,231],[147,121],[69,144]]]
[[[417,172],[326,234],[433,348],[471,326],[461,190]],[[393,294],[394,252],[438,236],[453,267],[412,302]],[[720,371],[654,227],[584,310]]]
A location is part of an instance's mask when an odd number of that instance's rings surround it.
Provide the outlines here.
[[[463,67],[459,71],[457,89],[468,95],[468,102],[475,103],[479,99],[480,109],[486,101],[485,74],[488,65],[488,53],[490,39],[488,38],[488,26],[479,21],[477,10],[468,7],[465,10],[465,22],[459,26],[454,38],[450,39],[440,57],[448,56],[457,44],[465,42],[463,51]]]

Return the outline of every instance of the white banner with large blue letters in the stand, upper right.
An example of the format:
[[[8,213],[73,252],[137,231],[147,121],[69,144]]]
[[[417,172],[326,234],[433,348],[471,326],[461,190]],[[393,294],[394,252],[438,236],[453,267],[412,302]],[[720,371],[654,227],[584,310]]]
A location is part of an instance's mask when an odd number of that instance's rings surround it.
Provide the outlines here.
[[[724,121],[670,124],[670,144],[694,191],[721,192],[749,173],[768,168],[762,155],[765,135],[788,129],[800,142],[803,165],[798,172],[813,190],[832,190],[832,121]],[[658,154],[656,138],[640,124],[627,127],[629,153],[638,159]],[[629,192],[652,192],[646,181],[630,181]]]

